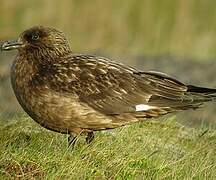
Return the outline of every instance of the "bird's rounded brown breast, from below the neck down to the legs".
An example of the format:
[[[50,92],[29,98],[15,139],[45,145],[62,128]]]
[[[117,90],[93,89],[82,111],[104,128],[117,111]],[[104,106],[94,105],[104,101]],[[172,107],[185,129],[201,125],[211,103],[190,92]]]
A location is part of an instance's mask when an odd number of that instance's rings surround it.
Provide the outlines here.
[[[33,77],[34,74],[27,71],[23,64],[14,62],[11,68],[11,84],[19,104],[43,127],[67,133],[70,126],[75,126],[70,122],[72,117],[70,108],[74,106],[74,99],[66,98],[64,94],[57,94],[47,86],[34,85]]]

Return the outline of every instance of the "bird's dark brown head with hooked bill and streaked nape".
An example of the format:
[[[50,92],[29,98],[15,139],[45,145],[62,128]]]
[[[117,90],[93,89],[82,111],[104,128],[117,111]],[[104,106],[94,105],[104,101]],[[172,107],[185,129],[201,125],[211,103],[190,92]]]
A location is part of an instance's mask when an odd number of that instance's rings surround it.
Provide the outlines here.
[[[18,49],[37,57],[55,57],[70,52],[63,32],[54,28],[35,26],[22,32],[16,40],[5,41],[1,50]]]

